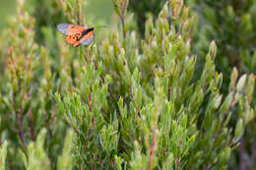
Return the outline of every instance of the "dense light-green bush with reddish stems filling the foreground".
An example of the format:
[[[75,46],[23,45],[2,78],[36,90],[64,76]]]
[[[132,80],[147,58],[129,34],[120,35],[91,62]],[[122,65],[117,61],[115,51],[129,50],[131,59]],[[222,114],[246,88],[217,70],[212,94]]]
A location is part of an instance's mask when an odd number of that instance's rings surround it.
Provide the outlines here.
[[[120,28],[74,48],[52,27],[58,21],[35,21],[18,1],[1,42],[1,169],[225,169],[255,116],[255,76],[239,78],[233,68],[223,93],[215,41],[194,75],[194,18],[183,1],[150,16],[143,39],[128,0],[112,2]],[[48,17],[92,26],[84,0],[45,8]]]

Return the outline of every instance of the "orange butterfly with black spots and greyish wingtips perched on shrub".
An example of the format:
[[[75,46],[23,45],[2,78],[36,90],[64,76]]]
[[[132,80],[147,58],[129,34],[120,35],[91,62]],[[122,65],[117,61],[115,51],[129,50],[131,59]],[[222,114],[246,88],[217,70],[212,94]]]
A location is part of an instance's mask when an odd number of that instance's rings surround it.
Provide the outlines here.
[[[83,28],[70,24],[59,24],[58,31],[66,35],[66,42],[74,47],[90,45],[95,39],[95,28]]]

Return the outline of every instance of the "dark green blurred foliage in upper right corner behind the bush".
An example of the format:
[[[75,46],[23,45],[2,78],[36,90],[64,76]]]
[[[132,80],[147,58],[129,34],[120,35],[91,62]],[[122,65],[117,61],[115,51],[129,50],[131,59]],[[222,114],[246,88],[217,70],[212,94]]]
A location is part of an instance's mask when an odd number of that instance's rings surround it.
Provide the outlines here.
[[[255,73],[256,2],[199,0],[195,8],[201,14],[198,15],[199,23],[202,20],[206,23],[198,28],[201,33],[197,34],[197,50],[203,53],[202,56],[206,51],[205,44],[216,39],[218,70],[229,74],[230,66],[235,66],[241,73]]]

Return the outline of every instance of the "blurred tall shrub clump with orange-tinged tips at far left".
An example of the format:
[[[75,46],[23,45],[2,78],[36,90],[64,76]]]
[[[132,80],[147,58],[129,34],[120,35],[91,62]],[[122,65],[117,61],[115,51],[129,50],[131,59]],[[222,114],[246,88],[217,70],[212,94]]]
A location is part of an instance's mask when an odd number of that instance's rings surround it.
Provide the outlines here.
[[[56,144],[61,143],[63,123],[57,119],[51,95],[50,59],[48,51],[34,42],[34,19],[25,11],[24,1],[18,1],[17,13],[8,29],[7,67],[1,75],[1,134],[3,140],[10,141],[8,163],[13,168],[23,167],[21,161],[16,161],[21,158],[17,152],[22,149],[29,156],[29,143],[45,127],[48,153],[55,166],[54,157],[60,149]]]

